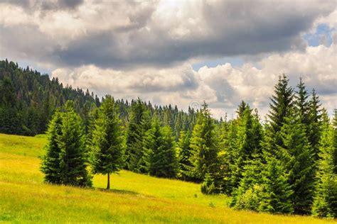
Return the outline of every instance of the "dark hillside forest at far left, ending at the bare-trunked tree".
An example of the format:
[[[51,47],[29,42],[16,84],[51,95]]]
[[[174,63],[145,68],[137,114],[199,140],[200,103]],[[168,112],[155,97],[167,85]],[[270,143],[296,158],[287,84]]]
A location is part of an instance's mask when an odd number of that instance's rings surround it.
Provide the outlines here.
[[[74,101],[87,125],[87,113],[96,106],[93,94],[63,87],[57,78],[50,80],[47,74],[22,69],[14,62],[0,61],[0,133],[44,133],[56,108],[68,100]]]

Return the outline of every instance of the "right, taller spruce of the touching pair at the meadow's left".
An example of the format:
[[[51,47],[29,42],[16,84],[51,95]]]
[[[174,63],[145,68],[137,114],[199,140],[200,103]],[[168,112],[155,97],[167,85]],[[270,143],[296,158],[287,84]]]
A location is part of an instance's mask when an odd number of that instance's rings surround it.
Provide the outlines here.
[[[61,183],[73,186],[91,186],[87,172],[85,136],[80,116],[75,113],[73,101],[65,103],[59,138]]]

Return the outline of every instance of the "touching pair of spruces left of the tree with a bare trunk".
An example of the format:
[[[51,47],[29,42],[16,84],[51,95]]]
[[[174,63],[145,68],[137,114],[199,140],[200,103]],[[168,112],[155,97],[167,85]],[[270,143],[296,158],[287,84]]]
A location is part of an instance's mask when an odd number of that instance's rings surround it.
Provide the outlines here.
[[[91,186],[82,121],[73,105],[68,101],[65,112],[55,113],[48,130],[47,155],[43,157],[41,169],[50,183]]]

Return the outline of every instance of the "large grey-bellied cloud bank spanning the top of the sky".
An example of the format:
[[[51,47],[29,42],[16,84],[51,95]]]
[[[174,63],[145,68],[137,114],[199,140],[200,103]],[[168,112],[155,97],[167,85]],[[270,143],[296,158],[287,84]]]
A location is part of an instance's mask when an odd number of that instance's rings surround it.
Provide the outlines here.
[[[303,51],[306,44],[301,33],[336,8],[333,1],[22,2],[1,3],[1,14],[11,15],[0,19],[0,32],[9,32],[2,38],[6,47],[1,55],[14,57],[22,52],[16,47],[17,40],[9,37],[30,26],[30,35],[50,48],[45,55],[26,52],[31,58],[57,67],[93,64],[111,69],[171,67],[198,58]],[[9,26],[11,29],[4,29]],[[18,38],[24,40],[25,36]]]

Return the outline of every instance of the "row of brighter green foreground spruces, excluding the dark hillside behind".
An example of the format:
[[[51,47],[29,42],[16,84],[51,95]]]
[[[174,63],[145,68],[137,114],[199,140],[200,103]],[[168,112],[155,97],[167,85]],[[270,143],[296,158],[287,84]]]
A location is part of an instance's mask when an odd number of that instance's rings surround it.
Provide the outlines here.
[[[217,123],[204,103],[193,128],[178,136],[140,99],[124,125],[118,104],[106,96],[92,111],[87,135],[69,105],[48,130],[43,172],[50,183],[90,186],[90,164],[92,173],[107,174],[107,189],[109,174],[129,169],[200,182],[204,194],[231,196],[236,209],[336,218],[337,110],[331,122],[301,80],[295,91],[279,78],[264,123],[244,101],[237,118]]]

